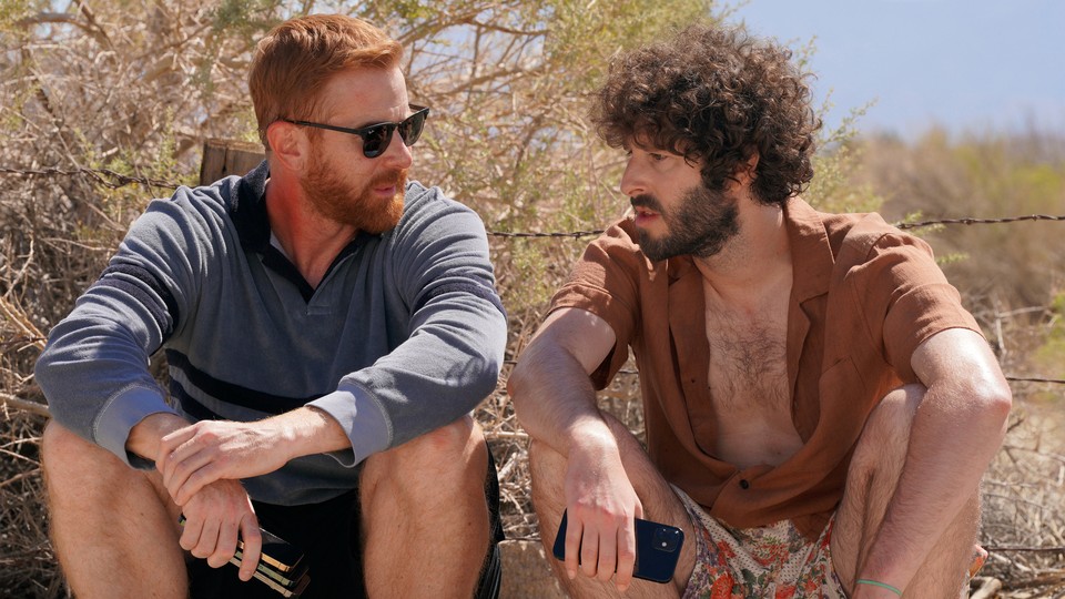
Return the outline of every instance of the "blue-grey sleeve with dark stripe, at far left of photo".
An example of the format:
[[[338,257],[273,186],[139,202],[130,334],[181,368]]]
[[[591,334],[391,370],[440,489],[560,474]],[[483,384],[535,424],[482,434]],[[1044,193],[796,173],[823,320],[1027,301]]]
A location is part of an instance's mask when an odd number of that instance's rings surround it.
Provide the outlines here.
[[[205,260],[211,210],[179,189],[155,200],[130,227],[100,278],[49,334],[36,378],[55,420],[112,451],[128,455],[130,429],[156,413],[175,414],[149,370],[149,359],[192,309]]]

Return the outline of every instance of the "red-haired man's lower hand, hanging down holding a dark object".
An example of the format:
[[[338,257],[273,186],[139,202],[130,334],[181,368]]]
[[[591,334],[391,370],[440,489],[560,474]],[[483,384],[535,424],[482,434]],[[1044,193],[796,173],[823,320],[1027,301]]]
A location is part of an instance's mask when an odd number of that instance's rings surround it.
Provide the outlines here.
[[[236,552],[237,536],[244,541],[240,578],[255,573],[263,539],[252,501],[239,480],[217,480],[203,487],[182,508],[184,529],[182,549],[205,558],[212,568],[221,568]]]

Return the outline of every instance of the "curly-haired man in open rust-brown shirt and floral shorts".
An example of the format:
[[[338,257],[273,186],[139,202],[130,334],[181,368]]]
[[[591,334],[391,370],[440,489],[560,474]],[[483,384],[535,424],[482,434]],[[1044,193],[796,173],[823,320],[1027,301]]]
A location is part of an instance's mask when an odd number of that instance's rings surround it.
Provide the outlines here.
[[[1010,389],[925,243],[799,196],[820,123],[790,53],[691,27],[621,55],[594,120],[633,210],[508,383],[568,590],[958,597]],[[595,400],[629,348],[646,453]],[[666,585],[632,579],[633,518],[684,532]]]

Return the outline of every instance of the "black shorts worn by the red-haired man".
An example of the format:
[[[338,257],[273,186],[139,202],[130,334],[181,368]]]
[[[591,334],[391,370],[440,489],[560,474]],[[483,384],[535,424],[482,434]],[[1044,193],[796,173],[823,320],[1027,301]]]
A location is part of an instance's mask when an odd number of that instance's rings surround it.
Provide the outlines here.
[[[499,484],[490,450],[485,477],[485,497],[491,519],[491,544],[481,567],[480,582],[475,595],[477,599],[498,597],[501,578],[498,542],[504,535],[499,519]],[[304,550],[304,559],[310,565],[311,583],[301,595],[301,599],[366,597],[359,556],[359,507],[356,490],[322,504],[305,506],[276,506],[258,501],[253,504],[261,527]],[[255,579],[242,582],[236,576],[236,567],[230,564],[215,569],[207,566],[206,560],[191,558],[189,578],[192,599],[281,597],[278,592]]]

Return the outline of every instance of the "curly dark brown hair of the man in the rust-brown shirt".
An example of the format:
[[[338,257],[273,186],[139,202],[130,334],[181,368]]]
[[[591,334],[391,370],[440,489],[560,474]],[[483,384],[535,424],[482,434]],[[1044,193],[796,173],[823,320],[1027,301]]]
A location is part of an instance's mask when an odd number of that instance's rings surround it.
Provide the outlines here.
[[[808,74],[791,51],[742,27],[690,26],[672,40],[617,57],[592,106],[611,146],[638,143],[702,161],[707,187],[758,155],[752,191],[765,204],[799,194],[813,176],[821,120]]]

